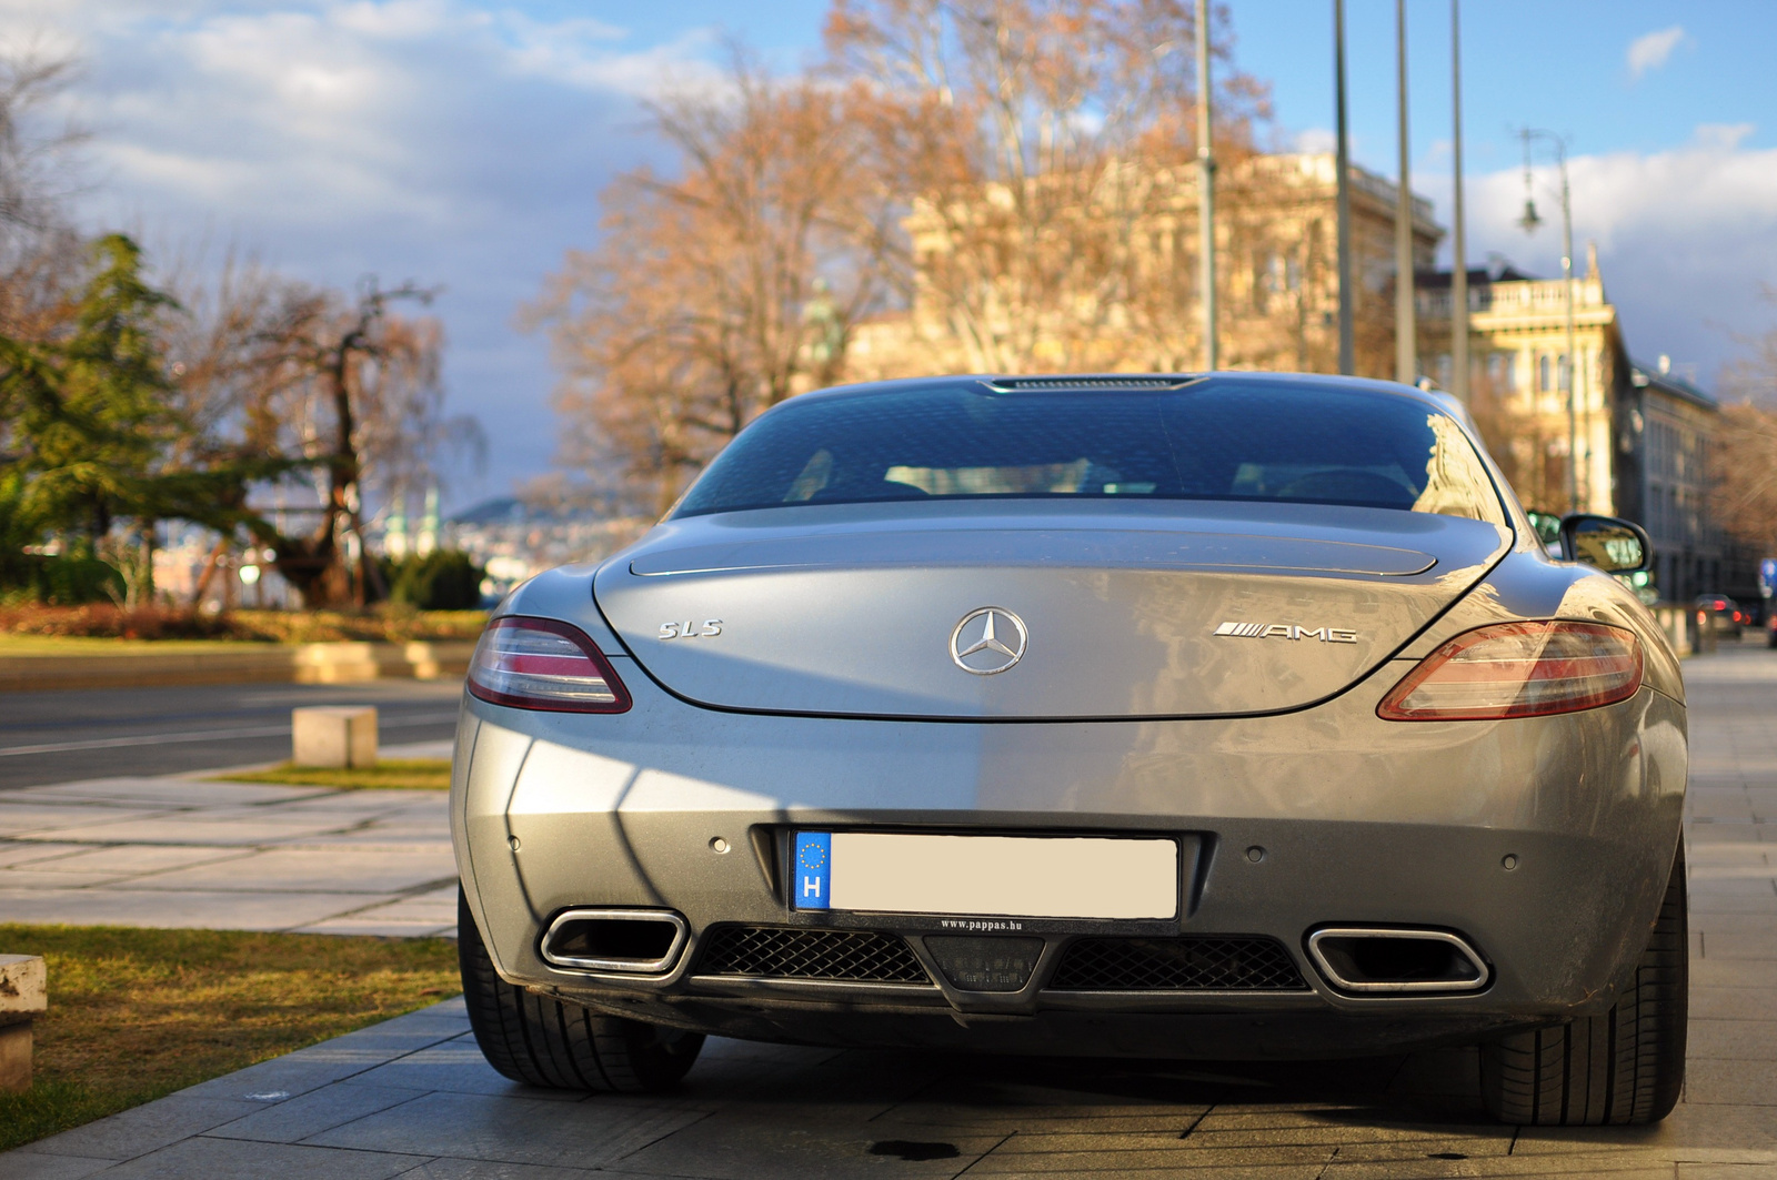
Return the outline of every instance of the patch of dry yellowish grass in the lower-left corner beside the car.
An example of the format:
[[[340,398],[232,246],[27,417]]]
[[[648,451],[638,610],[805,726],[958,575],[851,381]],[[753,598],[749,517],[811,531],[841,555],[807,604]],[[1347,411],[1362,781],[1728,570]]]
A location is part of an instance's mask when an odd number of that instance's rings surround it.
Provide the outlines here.
[[[457,995],[446,938],[0,924],[41,954],[36,1077],[0,1095],[0,1152]]]

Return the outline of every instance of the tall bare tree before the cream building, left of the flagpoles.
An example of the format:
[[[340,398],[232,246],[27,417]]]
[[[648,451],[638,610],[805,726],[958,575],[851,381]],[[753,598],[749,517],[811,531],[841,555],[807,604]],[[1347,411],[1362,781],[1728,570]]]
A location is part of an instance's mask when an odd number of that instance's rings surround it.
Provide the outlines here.
[[[874,85],[874,158],[912,201],[915,331],[986,371],[1196,354],[1194,36],[1183,0],[835,2],[832,69]],[[1221,78],[1231,162],[1269,108]]]

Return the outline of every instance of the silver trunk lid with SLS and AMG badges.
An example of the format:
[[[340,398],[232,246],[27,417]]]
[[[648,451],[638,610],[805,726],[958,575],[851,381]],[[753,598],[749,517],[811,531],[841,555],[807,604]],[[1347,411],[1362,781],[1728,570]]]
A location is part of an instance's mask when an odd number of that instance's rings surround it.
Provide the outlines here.
[[[1383,508],[835,505],[670,521],[601,567],[594,595],[656,681],[705,706],[1223,716],[1340,691],[1509,546],[1503,526]],[[983,608],[995,636],[981,615],[958,634]],[[983,638],[1008,650],[958,666]]]

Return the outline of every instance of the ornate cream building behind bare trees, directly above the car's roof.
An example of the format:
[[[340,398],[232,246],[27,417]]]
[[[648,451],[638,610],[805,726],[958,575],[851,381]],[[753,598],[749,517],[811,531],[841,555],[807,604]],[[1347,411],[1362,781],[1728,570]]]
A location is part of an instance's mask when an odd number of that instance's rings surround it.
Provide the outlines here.
[[[1215,185],[1224,368],[1338,368],[1336,167],[1260,155]],[[1034,213],[1031,211],[1034,206]],[[1352,169],[1358,370],[1393,371],[1395,185]],[[1191,370],[1203,355],[1196,171],[1112,171],[1018,204],[915,203],[913,299],[851,331],[851,380],[931,371]],[[1413,199],[1414,261],[1443,238]]]

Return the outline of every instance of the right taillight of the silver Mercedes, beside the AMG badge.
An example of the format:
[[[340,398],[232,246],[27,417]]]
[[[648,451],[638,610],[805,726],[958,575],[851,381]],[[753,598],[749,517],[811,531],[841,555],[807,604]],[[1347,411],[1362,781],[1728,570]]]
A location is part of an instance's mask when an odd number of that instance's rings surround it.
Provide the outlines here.
[[[1459,634],[1377,706],[1388,722],[1486,722],[1576,713],[1642,686],[1633,631],[1594,622],[1507,622]]]

